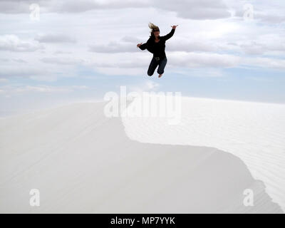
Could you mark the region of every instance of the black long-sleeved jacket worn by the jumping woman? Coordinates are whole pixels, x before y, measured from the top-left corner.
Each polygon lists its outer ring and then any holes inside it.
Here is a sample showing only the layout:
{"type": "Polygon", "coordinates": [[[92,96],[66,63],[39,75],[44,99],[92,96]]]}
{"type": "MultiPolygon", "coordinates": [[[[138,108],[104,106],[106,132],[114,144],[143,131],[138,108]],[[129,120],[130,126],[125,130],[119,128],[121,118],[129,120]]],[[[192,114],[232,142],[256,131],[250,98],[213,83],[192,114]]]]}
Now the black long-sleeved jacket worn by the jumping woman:
{"type": "Polygon", "coordinates": [[[172,28],[170,33],[166,36],[160,36],[160,41],[155,43],[155,37],[150,37],[147,40],[147,43],[143,43],[139,48],[141,50],[147,49],[150,53],[153,53],[154,57],[164,58],[165,56],[165,41],[167,41],[170,37],[173,36],[175,32],[175,28],[172,28]]]}

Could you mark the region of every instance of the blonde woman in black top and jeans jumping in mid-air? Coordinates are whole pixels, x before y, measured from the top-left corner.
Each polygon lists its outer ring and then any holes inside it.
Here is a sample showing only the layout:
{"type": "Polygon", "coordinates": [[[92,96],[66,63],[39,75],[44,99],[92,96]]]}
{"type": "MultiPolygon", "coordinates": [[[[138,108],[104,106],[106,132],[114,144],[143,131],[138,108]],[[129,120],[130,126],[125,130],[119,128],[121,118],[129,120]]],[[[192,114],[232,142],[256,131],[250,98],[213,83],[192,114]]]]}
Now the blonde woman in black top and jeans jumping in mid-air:
{"type": "Polygon", "coordinates": [[[152,61],[150,61],[150,66],[147,70],[147,75],[152,76],[155,72],[155,68],[158,66],[157,73],[159,73],[158,78],[160,78],[164,73],[167,63],[167,58],[165,56],[165,41],[173,36],[177,26],[171,26],[172,30],[166,36],[160,36],[160,28],[155,26],[155,24],[149,23],[148,26],[152,29],[150,38],[147,40],[147,43],[138,43],[137,47],[141,50],[147,49],[147,51],[153,53],[152,61]]]}

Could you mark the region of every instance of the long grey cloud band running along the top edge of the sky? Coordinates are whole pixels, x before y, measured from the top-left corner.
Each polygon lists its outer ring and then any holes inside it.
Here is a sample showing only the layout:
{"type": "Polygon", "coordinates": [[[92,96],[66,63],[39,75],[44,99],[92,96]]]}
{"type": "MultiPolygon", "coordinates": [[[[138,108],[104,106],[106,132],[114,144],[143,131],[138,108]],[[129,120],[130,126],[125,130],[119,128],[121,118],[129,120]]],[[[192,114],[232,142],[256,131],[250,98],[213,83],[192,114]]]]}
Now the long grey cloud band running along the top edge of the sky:
{"type": "Polygon", "coordinates": [[[186,19],[221,19],[230,16],[227,5],[222,0],[50,0],[50,1],[21,1],[4,0],[0,2],[1,12],[6,14],[28,13],[28,6],[37,3],[43,12],[70,12],[79,13],[90,10],[108,9],[163,9],[165,11],[175,11],[178,17],[186,19]]]}

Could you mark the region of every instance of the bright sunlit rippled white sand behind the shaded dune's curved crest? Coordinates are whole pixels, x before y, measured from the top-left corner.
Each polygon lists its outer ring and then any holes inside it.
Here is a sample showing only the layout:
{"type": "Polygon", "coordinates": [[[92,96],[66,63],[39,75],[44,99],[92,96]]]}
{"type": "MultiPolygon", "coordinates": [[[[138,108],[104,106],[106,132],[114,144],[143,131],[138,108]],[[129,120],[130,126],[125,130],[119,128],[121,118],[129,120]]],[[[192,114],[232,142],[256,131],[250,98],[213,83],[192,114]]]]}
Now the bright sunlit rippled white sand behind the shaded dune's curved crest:
{"type": "Polygon", "coordinates": [[[123,118],[128,137],[164,145],[215,147],[236,155],[285,210],[285,105],[182,98],[182,118],[123,118]]]}

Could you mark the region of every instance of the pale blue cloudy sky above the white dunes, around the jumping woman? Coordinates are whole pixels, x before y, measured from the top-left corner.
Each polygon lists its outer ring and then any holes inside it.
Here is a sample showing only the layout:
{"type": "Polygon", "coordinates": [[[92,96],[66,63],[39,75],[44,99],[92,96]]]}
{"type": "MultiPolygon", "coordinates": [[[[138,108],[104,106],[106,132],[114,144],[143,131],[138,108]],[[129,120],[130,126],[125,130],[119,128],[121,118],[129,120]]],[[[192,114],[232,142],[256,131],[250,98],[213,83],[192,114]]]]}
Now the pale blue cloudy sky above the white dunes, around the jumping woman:
{"type": "Polygon", "coordinates": [[[285,103],[285,1],[1,0],[0,115],[108,91],[285,103]],[[137,48],[166,41],[162,78],[137,48]]]}

